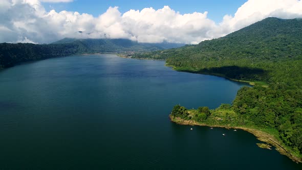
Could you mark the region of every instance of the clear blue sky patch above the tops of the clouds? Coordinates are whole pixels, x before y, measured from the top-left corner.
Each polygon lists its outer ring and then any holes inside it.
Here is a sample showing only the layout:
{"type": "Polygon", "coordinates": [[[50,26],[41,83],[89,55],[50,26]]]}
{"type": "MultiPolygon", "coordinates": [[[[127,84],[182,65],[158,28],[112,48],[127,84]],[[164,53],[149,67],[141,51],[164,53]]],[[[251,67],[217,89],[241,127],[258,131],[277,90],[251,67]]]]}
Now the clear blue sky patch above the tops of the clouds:
{"type": "Polygon", "coordinates": [[[246,0],[74,0],[70,3],[42,3],[46,10],[56,11],[77,11],[99,16],[106,12],[111,6],[119,7],[119,11],[124,13],[130,9],[142,10],[143,8],[153,7],[154,9],[169,6],[171,9],[181,14],[208,11],[208,18],[220,23],[226,14],[233,15],[246,0]]]}

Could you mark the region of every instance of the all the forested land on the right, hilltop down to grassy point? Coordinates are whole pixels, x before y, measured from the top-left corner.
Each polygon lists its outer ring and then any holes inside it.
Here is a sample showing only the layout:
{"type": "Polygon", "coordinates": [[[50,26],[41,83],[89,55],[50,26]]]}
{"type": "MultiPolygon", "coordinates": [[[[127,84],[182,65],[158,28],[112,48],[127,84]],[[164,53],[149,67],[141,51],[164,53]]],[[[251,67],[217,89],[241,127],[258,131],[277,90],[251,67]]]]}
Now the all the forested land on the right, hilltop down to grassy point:
{"type": "Polygon", "coordinates": [[[231,105],[214,110],[176,105],[170,118],[181,124],[266,132],[287,156],[302,161],[302,19],[269,17],[198,45],[133,57],[166,59],[178,71],[254,82],[241,88],[231,105]]]}

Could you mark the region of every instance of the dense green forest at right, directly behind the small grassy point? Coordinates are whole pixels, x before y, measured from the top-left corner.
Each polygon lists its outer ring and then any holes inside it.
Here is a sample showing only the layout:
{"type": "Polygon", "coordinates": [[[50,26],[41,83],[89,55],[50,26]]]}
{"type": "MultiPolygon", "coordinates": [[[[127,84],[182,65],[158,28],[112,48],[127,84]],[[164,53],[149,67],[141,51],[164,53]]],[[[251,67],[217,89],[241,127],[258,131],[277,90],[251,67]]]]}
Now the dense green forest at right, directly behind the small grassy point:
{"type": "MultiPolygon", "coordinates": [[[[294,81],[294,80],[293,80],[294,81]]],[[[255,125],[275,128],[285,144],[302,153],[302,91],[285,83],[269,87],[244,87],[233,101],[233,110],[255,125]]]]}

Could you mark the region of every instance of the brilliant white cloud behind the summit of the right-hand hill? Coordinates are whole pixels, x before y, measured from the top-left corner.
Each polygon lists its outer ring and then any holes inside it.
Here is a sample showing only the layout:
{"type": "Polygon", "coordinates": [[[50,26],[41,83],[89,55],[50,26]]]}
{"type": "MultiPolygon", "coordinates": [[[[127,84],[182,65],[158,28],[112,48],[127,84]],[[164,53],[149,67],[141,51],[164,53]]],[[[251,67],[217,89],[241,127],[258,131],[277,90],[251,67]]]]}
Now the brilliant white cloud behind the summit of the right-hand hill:
{"type": "Polygon", "coordinates": [[[220,23],[223,35],[244,28],[267,17],[302,17],[300,0],[249,0],[243,4],[234,16],[225,15],[220,23]]]}

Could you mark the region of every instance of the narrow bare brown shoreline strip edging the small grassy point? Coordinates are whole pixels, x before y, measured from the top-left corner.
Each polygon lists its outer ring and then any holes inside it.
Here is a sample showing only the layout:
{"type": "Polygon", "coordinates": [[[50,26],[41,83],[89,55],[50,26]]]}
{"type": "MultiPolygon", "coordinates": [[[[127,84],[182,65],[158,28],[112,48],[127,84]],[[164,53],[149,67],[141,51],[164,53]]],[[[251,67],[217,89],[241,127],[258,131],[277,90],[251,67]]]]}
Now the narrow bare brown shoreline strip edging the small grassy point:
{"type": "Polygon", "coordinates": [[[199,125],[199,126],[208,126],[208,127],[215,127],[215,128],[241,129],[243,131],[253,134],[258,140],[274,146],[276,151],[278,151],[282,155],[287,156],[292,161],[294,161],[296,163],[302,163],[302,158],[298,158],[298,157],[292,155],[290,152],[288,152],[286,150],[286,148],[284,148],[282,146],[281,143],[279,143],[279,141],[273,135],[270,135],[261,130],[255,130],[252,128],[247,128],[247,127],[242,127],[242,126],[228,126],[228,125],[218,125],[218,124],[209,125],[206,123],[199,123],[199,122],[192,121],[192,120],[184,120],[179,117],[172,118],[171,115],[169,115],[169,119],[171,122],[175,122],[175,123],[181,124],[181,125],[199,125]]]}

